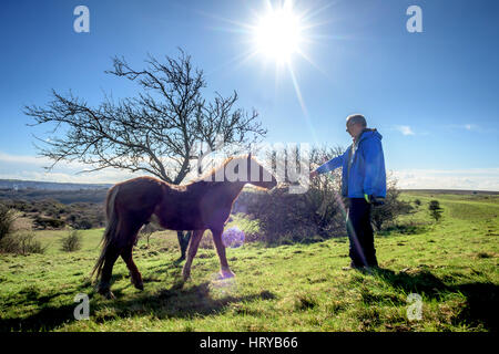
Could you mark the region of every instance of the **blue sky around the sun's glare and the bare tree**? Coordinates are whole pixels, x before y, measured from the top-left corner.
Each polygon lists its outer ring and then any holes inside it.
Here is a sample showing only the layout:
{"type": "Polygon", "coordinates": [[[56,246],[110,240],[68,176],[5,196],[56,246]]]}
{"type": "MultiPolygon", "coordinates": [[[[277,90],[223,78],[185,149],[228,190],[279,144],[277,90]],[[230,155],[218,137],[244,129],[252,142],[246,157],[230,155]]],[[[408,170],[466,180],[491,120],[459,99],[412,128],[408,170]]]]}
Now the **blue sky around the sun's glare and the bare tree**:
{"type": "MultiPolygon", "coordinates": [[[[279,2],[273,1],[274,7],[279,2]]],[[[134,95],[136,86],[104,74],[111,56],[140,67],[147,53],[177,46],[204,71],[212,96],[236,90],[238,105],[259,112],[269,143],[346,147],[345,117],[363,113],[384,136],[387,170],[406,188],[499,190],[499,2],[294,1],[310,24],[291,72],[262,55],[247,58],[246,25],[265,1],[2,1],[0,13],[0,178],[116,181],[125,175],[51,174],[35,159],[26,104],[43,105],[50,90],[91,104],[103,92],[134,95]],[[90,10],[90,33],[73,30],[73,9],[90,10]],[[409,33],[409,6],[422,10],[422,33],[409,33]],[[297,96],[299,87],[302,104],[297,96]]],[[[81,166],[80,166],[81,167],[81,166]]]]}

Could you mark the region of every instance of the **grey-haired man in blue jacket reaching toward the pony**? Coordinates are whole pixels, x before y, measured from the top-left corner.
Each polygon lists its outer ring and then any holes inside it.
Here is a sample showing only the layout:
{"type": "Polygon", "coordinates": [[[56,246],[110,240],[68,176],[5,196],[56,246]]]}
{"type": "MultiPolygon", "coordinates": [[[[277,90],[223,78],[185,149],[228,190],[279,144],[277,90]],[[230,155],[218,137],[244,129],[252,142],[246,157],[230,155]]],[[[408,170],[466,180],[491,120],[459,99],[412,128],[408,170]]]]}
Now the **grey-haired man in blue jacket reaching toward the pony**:
{"type": "Polygon", "coordinates": [[[353,144],[345,154],[312,171],[310,178],[343,167],[342,195],[349,198],[346,223],[350,267],[377,267],[370,211],[373,205],[381,205],[386,197],[381,135],[376,129],[367,128],[366,118],[360,114],[348,116],[346,127],[353,144]]]}

